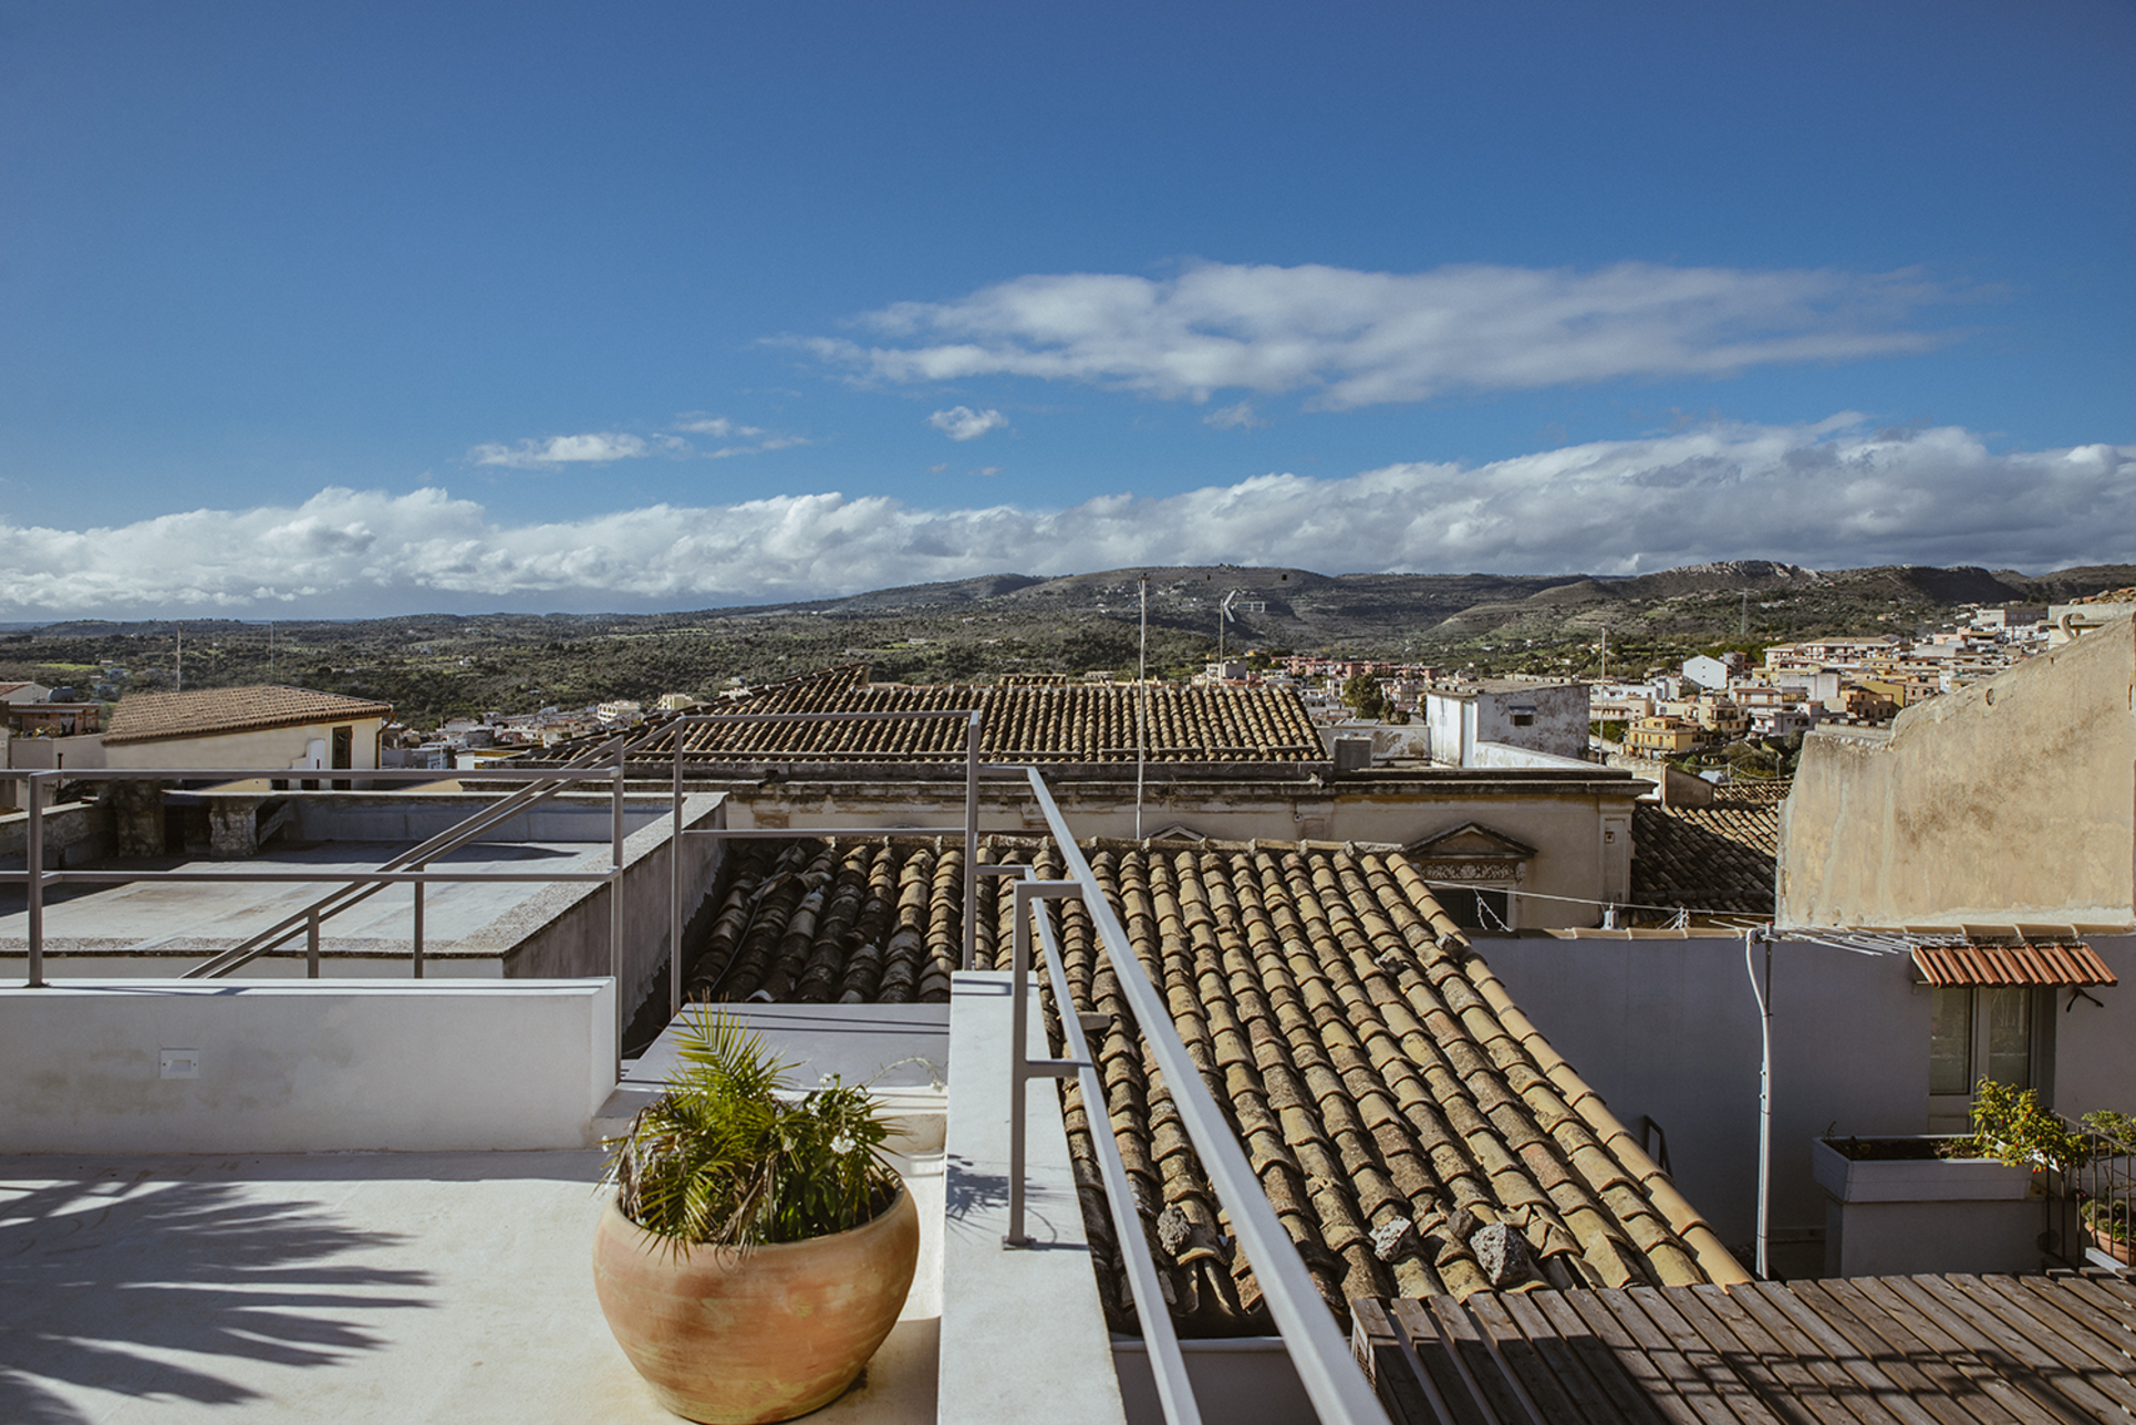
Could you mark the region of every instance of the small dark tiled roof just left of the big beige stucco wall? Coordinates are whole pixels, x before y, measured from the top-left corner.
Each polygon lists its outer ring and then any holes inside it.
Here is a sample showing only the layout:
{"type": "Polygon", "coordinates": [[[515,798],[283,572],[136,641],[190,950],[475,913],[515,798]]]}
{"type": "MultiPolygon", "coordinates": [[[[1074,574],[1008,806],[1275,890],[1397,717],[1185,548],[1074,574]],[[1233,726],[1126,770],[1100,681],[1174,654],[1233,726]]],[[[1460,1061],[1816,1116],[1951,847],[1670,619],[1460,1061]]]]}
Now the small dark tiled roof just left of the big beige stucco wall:
{"type": "Polygon", "coordinates": [[[1634,805],[1632,902],[1773,919],[1784,797],[1786,784],[1741,784],[1705,808],[1634,805]]]}

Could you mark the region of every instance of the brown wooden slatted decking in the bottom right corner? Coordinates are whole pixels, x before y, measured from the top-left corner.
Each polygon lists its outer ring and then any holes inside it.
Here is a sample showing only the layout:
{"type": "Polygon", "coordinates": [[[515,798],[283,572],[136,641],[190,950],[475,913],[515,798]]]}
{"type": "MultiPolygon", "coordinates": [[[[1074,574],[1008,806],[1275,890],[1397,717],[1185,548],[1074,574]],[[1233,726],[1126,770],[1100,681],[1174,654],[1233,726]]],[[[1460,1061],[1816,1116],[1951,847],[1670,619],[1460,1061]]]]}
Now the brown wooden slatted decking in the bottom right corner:
{"type": "Polygon", "coordinates": [[[2083,1425],[2136,1416],[2136,1286],[1854,1278],[1352,1301],[1397,1425],[2083,1425]]]}

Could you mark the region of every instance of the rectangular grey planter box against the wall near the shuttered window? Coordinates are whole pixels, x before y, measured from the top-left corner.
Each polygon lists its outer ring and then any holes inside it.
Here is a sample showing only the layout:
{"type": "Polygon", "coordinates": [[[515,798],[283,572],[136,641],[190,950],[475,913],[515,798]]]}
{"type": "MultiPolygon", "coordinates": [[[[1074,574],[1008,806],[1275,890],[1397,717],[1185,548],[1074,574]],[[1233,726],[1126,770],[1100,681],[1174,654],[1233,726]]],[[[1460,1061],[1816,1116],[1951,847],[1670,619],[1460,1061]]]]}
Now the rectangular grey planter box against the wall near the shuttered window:
{"type": "Polygon", "coordinates": [[[1816,1139],[1809,1171],[1824,1190],[1824,1275],[2040,1271],[2046,1199],[2029,1169],[1993,1158],[1935,1158],[1950,1139],[1860,1139],[1882,1152],[1850,1158],[1816,1139]]]}

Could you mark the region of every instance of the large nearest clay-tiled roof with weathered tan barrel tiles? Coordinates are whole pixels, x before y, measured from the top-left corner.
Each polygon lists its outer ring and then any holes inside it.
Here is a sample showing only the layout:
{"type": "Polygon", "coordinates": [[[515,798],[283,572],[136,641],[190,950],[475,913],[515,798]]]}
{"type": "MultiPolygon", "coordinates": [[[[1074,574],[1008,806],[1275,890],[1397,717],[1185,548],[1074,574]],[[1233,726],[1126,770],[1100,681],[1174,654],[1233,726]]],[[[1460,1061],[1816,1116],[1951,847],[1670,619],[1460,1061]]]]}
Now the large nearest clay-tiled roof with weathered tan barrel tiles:
{"type": "MultiPolygon", "coordinates": [[[[944,1000],[963,852],[933,842],[737,848],[692,998],[944,1000]],[[720,970],[733,961],[733,968],[720,970]]],[[[1478,1233],[1504,1222],[1532,1286],[1683,1284],[1741,1271],[1602,1100],[1521,1015],[1393,848],[1091,842],[1091,870],[1228,1105],[1329,1305],[1493,1284],[1478,1233]]],[[[1047,842],[989,837],[983,861],[1059,874],[1047,842]]],[[[1006,961],[1012,899],[980,880],[978,961],[1006,961]]],[[[1267,1327],[1171,1094],[1132,1032],[1077,904],[1053,910],[1094,1036],[1115,1141],[1173,1314],[1196,1333],[1267,1327]]],[[[1096,1147],[1066,1085],[1083,1216],[1115,1325],[1132,1329],[1096,1147]]],[[[1504,1282],[1506,1278],[1499,1278],[1504,1282]]]]}

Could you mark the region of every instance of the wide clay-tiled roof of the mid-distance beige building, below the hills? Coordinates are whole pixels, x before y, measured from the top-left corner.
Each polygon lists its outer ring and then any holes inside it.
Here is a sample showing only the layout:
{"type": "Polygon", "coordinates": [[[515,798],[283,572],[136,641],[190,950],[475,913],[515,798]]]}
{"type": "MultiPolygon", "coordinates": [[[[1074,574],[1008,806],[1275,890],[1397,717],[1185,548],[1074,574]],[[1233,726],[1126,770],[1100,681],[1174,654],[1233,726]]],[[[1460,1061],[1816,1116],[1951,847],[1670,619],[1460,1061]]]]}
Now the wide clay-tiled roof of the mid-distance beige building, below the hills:
{"type": "MultiPolygon", "coordinates": [[[[891,714],[978,709],[980,756],[993,763],[1134,763],[1141,688],[1117,684],[927,686],[869,684],[867,664],[792,677],[731,699],[735,714],[884,714],[857,722],[737,722],[684,729],[684,761],[705,763],[961,763],[963,722],[891,714]]],[[[1290,688],[1147,690],[1151,763],[1326,761],[1305,703],[1290,688]]],[[[543,761],[581,746],[551,748],[543,761]]],[[[673,763],[673,733],[632,754],[673,763]]]]}

